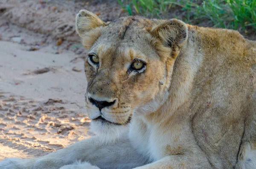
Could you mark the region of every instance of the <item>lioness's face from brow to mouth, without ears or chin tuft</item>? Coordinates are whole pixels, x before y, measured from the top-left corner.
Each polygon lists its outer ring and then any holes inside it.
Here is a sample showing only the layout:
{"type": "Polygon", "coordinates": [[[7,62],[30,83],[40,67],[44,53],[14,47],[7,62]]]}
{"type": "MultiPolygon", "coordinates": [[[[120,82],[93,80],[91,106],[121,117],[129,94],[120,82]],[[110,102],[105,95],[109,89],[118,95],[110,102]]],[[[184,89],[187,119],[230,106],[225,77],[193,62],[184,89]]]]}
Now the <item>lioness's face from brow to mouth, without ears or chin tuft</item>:
{"type": "Polygon", "coordinates": [[[102,125],[128,124],[134,109],[153,100],[159,92],[165,64],[149,44],[139,49],[122,40],[102,42],[108,39],[99,37],[84,63],[87,112],[102,125]]]}

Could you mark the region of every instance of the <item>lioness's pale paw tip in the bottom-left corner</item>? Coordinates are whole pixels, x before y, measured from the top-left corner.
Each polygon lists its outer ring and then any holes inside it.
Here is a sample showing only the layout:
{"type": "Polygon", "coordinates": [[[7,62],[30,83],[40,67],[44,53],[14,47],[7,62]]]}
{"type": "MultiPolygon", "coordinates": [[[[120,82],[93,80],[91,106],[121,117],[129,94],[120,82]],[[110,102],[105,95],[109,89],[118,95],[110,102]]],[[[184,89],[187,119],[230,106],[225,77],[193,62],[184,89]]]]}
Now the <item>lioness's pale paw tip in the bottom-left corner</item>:
{"type": "Polygon", "coordinates": [[[30,169],[32,159],[7,158],[0,161],[0,169],[30,169]]]}

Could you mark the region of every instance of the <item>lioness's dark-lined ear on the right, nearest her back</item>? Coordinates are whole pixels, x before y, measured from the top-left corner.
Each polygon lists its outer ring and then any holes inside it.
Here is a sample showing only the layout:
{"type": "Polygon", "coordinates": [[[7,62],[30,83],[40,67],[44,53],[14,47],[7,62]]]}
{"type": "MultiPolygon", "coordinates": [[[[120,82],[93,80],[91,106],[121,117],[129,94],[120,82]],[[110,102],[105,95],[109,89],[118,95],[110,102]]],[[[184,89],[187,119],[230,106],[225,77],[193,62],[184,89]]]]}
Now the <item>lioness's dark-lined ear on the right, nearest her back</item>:
{"type": "Polygon", "coordinates": [[[157,37],[163,46],[179,50],[188,38],[188,27],[181,20],[172,19],[154,26],[150,34],[157,37]]]}

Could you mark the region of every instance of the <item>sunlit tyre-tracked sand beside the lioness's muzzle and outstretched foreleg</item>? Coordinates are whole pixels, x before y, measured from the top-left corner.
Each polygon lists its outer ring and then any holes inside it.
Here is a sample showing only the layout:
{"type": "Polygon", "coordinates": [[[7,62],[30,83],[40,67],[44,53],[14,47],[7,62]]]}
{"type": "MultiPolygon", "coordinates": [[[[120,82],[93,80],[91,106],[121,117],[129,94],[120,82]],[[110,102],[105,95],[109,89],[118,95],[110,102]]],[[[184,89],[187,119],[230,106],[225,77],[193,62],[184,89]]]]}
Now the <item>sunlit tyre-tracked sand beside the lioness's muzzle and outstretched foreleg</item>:
{"type": "MultiPolygon", "coordinates": [[[[83,126],[85,115],[49,104],[60,100],[35,101],[1,94],[0,160],[5,157],[41,156],[90,137],[83,126]],[[44,112],[49,112],[47,115],[44,112]],[[8,150],[5,151],[5,150],[8,150]]],[[[86,120],[89,124],[90,120],[86,120]]]]}

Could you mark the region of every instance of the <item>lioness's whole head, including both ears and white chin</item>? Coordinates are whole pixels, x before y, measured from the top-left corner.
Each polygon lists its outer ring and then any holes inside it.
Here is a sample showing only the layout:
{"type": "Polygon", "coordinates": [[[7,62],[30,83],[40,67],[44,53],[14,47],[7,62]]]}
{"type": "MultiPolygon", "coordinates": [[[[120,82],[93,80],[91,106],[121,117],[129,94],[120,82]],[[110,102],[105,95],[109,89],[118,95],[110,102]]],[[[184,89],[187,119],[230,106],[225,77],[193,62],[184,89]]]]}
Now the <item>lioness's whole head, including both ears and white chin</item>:
{"type": "Polygon", "coordinates": [[[169,88],[175,58],[187,38],[186,25],[178,20],[158,25],[140,17],[104,23],[82,10],[76,26],[88,49],[85,103],[96,132],[119,132],[133,116],[153,112],[157,96],[169,88]],[[179,26],[184,27],[180,35],[179,26]],[[162,30],[170,28],[175,31],[166,40],[170,34],[162,30]]]}

